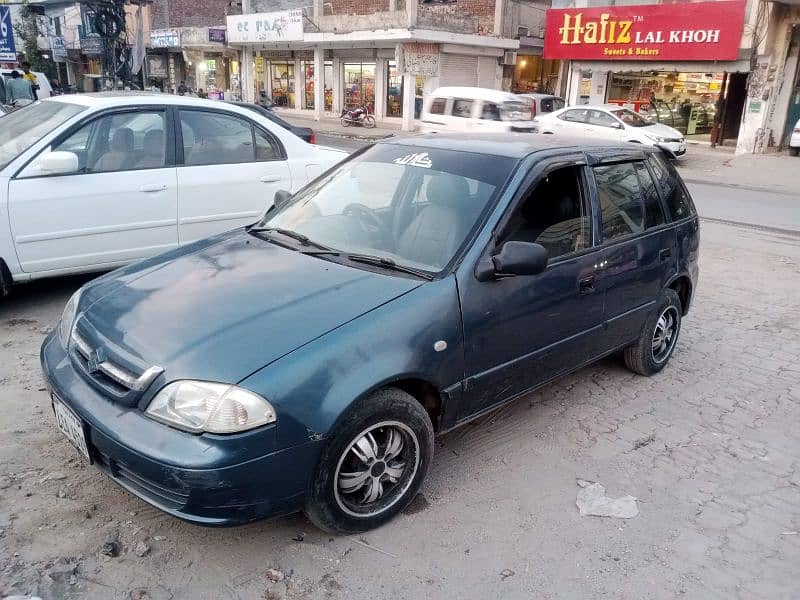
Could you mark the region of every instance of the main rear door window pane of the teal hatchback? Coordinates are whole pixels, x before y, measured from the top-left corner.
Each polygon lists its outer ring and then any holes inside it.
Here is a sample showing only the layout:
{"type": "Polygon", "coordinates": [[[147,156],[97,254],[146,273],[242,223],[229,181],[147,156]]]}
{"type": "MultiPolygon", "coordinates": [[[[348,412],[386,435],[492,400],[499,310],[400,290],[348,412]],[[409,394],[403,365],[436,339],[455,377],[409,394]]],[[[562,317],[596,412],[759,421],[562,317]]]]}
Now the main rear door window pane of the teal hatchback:
{"type": "Polygon", "coordinates": [[[645,210],[639,178],[632,163],[595,167],[603,241],[645,230],[645,210]]]}

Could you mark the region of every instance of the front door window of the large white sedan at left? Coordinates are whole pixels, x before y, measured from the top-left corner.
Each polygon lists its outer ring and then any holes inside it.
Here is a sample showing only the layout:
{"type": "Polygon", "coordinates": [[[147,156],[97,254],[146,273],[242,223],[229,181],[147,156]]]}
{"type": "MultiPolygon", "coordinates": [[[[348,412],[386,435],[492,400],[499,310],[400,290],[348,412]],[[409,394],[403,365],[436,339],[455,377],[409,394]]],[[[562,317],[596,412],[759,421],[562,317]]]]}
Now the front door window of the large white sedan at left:
{"type": "Polygon", "coordinates": [[[166,165],[165,130],[162,111],[115,113],[87,123],[53,150],[75,153],[83,173],[158,169],[166,165]]]}

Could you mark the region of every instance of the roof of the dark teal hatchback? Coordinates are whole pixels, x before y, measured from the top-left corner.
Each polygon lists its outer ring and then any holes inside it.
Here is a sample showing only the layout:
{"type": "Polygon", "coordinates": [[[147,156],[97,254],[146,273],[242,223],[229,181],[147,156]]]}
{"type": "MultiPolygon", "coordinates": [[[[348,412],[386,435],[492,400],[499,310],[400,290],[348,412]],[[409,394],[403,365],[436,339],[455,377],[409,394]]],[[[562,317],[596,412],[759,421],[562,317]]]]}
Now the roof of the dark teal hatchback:
{"type": "Polygon", "coordinates": [[[409,148],[430,148],[433,150],[454,150],[457,152],[475,152],[492,156],[505,156],[522,159],[535,152],[546,150],[564,150],[580,152],[592,150],[647,150],[641,144],[609,143],[603,140],[585,140],[582,137],[544,135],[536,133],[498,133],[498,134],[448,134],[430,133],[404,138],[387,138],[378,144],[407,146],[409,148]]]}

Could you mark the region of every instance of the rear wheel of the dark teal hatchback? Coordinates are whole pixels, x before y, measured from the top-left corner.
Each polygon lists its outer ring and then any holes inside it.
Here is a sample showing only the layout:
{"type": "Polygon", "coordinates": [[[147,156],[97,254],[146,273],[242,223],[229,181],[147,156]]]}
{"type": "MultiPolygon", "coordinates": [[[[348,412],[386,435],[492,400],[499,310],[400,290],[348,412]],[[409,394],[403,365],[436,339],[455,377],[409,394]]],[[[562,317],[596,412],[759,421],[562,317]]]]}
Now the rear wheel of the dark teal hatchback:
{"type": "Polygon", "coordinates": [[[681,330],[681,300],[666,289],[639,339],[625,348],[625,365],[639,375],[655,375],[669,362],[681,330]]]}

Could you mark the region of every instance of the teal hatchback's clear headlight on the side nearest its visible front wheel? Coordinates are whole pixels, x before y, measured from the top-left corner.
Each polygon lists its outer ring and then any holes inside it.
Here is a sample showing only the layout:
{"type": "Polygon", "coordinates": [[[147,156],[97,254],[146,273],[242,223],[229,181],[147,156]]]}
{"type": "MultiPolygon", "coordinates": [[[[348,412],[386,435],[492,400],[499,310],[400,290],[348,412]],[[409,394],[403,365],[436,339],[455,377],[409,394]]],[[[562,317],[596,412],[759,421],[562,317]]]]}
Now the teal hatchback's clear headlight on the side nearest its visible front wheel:
{"type": "Polygon", "coordinates": [[[150,402],[145,414],[191,433],[236,433],[275,421],[264,398],[235,385],[175,381],[150,402]]]}

